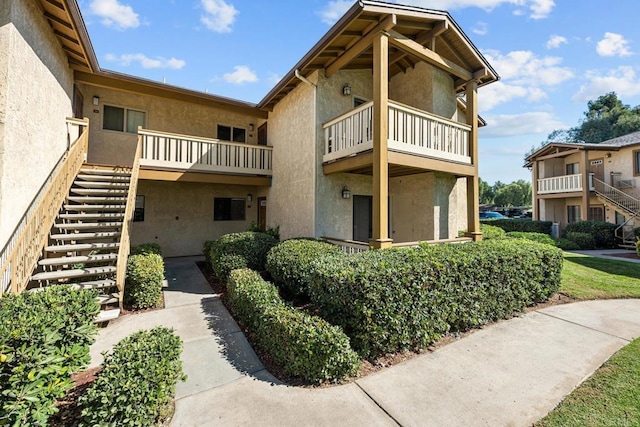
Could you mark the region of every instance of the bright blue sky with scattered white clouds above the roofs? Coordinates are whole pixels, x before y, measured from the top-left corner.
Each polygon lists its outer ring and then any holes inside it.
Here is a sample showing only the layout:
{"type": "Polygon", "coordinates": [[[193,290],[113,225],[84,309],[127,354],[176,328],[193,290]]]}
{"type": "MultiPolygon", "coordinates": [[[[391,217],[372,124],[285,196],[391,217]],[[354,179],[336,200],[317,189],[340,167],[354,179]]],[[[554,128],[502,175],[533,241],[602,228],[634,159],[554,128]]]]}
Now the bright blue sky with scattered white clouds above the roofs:
{"type": "MultiPolygon", "coordinates": [[[[351,0],[80,0],[100,65],[258,102],[351,0]]],[[[637,0],[401,0],[448,10],[501,76],[480,90],[480,177],[531,178],[523,155],[607,92],[640,104],[637,0]],[[635,27],[635,28],[634,28],[635,27]]]]}

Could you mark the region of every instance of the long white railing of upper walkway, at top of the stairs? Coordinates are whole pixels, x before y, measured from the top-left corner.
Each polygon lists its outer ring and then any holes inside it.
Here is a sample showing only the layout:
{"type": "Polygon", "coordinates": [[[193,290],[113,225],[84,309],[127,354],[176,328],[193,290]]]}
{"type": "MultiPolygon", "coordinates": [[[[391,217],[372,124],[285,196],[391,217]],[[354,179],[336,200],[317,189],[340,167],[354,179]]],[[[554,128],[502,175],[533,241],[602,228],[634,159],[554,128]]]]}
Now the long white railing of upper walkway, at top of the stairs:
{"type": "Polygon", "coordinates": [[[146,129],[140,166],[193,172],[272,174],[272,147],[200,138],[146,129]]]}

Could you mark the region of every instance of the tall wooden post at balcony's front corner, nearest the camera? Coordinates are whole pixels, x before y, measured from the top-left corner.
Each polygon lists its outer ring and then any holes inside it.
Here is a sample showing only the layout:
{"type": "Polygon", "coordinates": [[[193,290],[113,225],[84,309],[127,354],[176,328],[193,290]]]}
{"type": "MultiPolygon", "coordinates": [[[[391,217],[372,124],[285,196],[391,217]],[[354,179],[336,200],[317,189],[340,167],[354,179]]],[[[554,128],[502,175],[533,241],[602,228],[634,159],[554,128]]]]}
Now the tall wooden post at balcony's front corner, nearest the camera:
{"type": "Polygon", "coordinates": [[[389,38],[373,39],[373,238],[369,246],[389,248],[389,38]]]}

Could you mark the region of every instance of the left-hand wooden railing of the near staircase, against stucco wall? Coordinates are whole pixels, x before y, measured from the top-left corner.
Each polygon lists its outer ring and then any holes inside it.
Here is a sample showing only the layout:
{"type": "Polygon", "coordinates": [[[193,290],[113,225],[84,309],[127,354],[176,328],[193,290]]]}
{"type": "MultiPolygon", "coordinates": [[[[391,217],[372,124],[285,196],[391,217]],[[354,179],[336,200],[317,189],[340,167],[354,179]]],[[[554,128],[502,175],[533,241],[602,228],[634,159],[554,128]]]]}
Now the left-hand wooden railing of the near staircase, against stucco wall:
{"type": "Polygon", "coordinates": [[[89,120],[67,119],[70,144],[0,252],[0,296],[25,290],[69,188],[87,160],[89,120]]]}

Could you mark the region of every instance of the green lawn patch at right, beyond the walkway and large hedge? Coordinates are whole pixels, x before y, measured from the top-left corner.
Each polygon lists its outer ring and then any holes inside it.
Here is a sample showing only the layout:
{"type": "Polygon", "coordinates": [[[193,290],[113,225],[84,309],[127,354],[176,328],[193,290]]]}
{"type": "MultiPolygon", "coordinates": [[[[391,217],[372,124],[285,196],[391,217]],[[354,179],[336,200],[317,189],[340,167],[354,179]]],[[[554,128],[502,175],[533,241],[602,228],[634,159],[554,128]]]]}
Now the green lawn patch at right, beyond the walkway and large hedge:
{"type": "Polygon", "coordinates": [[[640,264],[565,252],[560,292],[577,299],[640,298],[640,264]]]}

